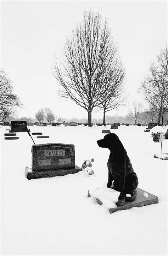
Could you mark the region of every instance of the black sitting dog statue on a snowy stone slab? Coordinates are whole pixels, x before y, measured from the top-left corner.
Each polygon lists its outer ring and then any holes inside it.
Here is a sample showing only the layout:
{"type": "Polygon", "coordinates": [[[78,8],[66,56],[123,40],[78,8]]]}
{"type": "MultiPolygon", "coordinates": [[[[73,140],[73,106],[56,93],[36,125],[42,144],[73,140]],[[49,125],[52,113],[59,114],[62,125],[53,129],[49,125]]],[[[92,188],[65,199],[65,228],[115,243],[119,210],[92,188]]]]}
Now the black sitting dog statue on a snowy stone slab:
{"type": "Polygon", "coordinates": [[[107,187],[120,192],[116,205],[122,206],[125,201],[134,201],[137,194],[138,178],[133,170],[127,151],[118,136],[114,133],[109,133],[102,140],[98,140],[97,144],[101,148],[110,149],[110,156],[107,162],[107,187]],[[126,194],[131,196],[127,197],[125,196],[126,194]]]}

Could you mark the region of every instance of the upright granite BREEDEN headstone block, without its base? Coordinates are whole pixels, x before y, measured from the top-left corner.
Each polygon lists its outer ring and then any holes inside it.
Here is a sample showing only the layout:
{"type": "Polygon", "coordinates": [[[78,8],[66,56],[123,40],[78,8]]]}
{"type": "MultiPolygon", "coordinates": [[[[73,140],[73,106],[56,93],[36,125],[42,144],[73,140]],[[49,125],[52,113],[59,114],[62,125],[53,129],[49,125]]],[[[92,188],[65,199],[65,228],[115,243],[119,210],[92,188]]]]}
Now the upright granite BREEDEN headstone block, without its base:
{"type": "Polygon", "coordinates": [[[32,146],[32,170],[75,168],[75,149],[72,144],[47,143],[32,146]]]}

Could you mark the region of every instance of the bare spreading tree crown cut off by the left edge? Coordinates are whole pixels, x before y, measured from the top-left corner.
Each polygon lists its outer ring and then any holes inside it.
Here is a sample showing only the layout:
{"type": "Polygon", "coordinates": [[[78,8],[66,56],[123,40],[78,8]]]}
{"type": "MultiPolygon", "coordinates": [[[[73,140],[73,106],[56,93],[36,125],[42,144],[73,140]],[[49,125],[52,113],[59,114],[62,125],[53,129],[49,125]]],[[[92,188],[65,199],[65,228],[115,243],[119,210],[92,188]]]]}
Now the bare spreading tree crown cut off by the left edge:
{"type": "Polygon", "coordinates": [[[4,70],[0,70],[0,107],[22,107],[18,96],[13,93],[12,82],[4,70]]]}

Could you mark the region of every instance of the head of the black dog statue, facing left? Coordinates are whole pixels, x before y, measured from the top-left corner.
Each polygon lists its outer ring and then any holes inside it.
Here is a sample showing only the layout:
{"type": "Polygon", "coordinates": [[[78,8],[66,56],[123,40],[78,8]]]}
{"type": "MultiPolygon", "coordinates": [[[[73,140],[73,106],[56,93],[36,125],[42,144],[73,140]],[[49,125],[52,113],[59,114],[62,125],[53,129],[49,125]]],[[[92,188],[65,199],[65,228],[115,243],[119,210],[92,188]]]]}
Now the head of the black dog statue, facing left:
{"type": "Polygon", "coordinates": [[[109,133],[104,136],[102,140],[98,140],[97,144],[101,148],[112,148],[118,139],[118,136],[114,133],[109,133]]]}

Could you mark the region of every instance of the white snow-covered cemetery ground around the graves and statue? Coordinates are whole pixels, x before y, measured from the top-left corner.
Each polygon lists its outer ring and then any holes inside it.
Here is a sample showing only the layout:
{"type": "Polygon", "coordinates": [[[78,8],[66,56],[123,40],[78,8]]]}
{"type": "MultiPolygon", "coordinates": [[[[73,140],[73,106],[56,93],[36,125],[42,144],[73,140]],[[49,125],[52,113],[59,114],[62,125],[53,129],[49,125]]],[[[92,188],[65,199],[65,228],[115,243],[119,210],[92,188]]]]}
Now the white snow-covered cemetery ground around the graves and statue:
{"type": "MultiPolygon", "coordinates": [[[[36,144],[75,145],[75,164],[94,158],[95,176],[77,174],[28,180],[32,140],[26,132],[19,140],[4,140],[1,127],[1,255],[167,255],[167,165],[154,158],[161,144],[153,143],[145,127],[119,127],[116,133],[127,150],[139,179],[139,188],[158,196],[158,204],[110,214],[88,190],[107,180],[110,151],[98,147],[102,130],[109,127],[36,127],[50,138],[36,144]]],[[[8,131],[6,131],[8,132],[8,131]]],[[[168,153],[168,140],[162,153],[168,153]]]]}

